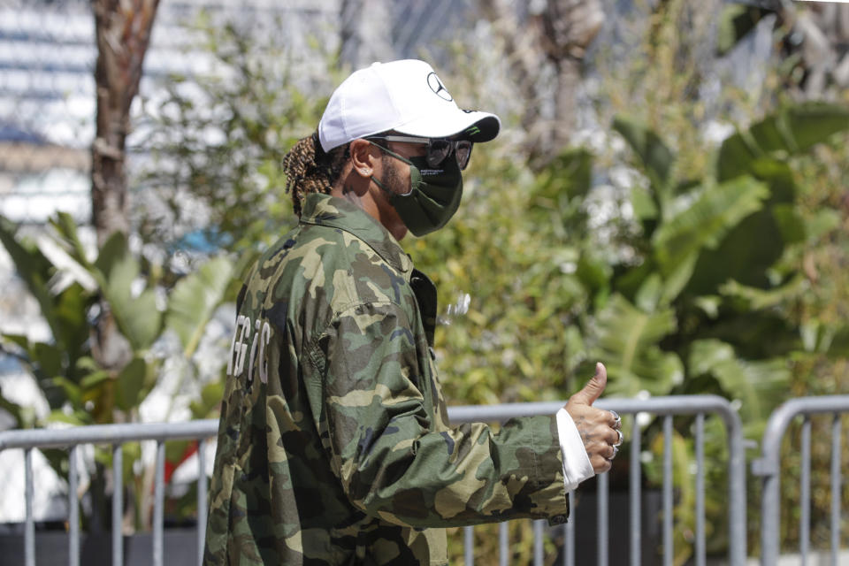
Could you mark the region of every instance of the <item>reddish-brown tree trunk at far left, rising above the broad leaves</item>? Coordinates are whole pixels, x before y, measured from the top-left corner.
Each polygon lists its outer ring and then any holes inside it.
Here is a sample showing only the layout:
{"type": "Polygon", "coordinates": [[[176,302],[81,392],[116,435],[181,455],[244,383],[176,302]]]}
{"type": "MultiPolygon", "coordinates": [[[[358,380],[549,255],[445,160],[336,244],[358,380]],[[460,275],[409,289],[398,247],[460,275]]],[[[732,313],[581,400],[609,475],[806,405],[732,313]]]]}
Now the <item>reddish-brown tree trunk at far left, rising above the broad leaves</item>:
{"type": "Polygon", "coordinates": [[[97,242],[127,233],[126,134],[159,0],[92,0],[97,63],[96,137],[91,146],[91,212],[97,242]]]}

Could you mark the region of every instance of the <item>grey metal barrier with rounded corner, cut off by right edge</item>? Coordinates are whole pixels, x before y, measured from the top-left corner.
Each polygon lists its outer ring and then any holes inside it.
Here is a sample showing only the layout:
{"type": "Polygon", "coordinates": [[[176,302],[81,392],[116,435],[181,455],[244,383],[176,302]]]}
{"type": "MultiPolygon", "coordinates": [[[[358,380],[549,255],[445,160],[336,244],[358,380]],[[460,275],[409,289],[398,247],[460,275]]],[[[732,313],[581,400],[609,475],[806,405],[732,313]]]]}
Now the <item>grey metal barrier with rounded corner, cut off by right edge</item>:
{"type": "Polygon", "coordinates": [[[802,416],[801,462],[802,469],[799,516],[799,554],[807,563],[809,551],[811,503],[811,415],[831,414],[831,563],[837,566],[840,549],[840,416],[849,413],[849,395],[804,397],[785,402],[769,417],[763,432],[761,458],[752,463],[752,472],[761,476],[761,564],[772,566],[778,562],[779,511],[781,508],[781,442],[784,432],[795,417],[802,416]]]}

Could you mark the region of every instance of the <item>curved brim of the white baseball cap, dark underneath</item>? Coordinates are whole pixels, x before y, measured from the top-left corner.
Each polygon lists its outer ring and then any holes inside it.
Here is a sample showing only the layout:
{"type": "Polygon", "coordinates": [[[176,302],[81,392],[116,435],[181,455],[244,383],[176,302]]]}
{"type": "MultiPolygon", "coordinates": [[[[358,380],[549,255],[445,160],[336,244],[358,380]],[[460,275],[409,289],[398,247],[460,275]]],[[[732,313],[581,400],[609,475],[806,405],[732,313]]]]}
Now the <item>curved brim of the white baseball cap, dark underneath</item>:
{"type": "Polygon", "coordinates": [[[489,142],[501,130],[501,120],[489,112],[460,110],[440,112],[438,116],[425,116],[395,126],[399,134],[416,135],[424,138],[455,137],[481,143],[489,142]]]}

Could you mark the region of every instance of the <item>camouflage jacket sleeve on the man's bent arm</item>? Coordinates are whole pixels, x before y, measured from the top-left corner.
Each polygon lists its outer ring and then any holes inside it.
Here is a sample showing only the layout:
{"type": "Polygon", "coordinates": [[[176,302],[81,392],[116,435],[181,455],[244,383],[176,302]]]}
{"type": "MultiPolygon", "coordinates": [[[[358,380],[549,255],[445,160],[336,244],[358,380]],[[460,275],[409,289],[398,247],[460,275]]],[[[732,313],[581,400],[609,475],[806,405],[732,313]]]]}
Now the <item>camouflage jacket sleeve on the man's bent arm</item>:
{"type": "MultiPolygon", "coordinates": [[[[353,505],[416,527],[516,517],[565,520],[555,416],[436,430],[415,335],[391,302],[340,313],[310,348],[310,399],[333,472],[353,505]],[[320,386],[316,383],[320,381],[320,386]]],[[[307,378],[309,379],[309,378],[307,378]]]]}

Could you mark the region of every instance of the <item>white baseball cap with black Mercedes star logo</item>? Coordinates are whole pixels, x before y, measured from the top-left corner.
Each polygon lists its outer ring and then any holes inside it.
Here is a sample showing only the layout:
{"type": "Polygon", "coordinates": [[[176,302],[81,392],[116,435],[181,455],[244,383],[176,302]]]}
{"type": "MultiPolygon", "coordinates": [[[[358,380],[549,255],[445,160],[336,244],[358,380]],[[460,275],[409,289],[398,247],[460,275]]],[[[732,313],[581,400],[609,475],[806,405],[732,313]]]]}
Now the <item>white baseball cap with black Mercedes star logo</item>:
{"type": "Polygon", "coordinates": [[[460,134],[489,142],[501,128],[489,112],[460,110],[431,65],[417,59],[372,63],[333,91],[318,122],[325,151],[358,138],[394,130],[424,138],[460,134]]]}

